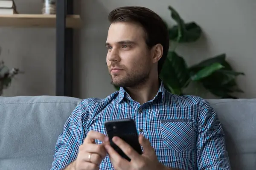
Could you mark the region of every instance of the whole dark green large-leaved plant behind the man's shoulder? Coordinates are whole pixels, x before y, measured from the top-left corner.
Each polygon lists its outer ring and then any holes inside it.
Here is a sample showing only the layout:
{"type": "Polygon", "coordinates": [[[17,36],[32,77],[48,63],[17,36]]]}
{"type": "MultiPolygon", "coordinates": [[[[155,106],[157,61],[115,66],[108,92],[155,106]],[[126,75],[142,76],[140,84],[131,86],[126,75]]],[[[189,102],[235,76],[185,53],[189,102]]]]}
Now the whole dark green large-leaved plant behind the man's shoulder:
{"type": "Polygon", "coordinates": [[[236,83],[236,77],[244,73],[233,71],[226,60],[226,54],[220,54],[188,67],[175,49],[179,43],[197,41],[201,37],[202,30],[195,22],[184,23],[172,6],[169,6],[169,10],[177,25],[169,28],[171,48],[160,73],[165,88],[173,94],[184,95],[184,89],[191,82],[197,82],[219,98],[236,99],[236,96],[232,95],[233,92],[243,93],[236,83]]]}

